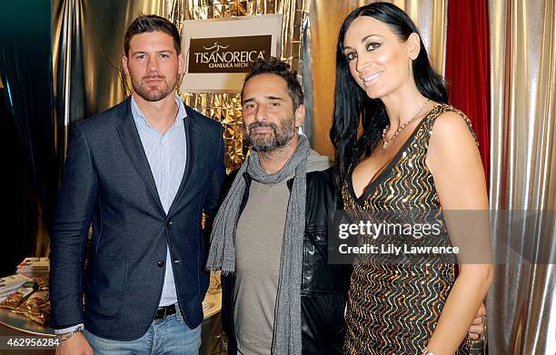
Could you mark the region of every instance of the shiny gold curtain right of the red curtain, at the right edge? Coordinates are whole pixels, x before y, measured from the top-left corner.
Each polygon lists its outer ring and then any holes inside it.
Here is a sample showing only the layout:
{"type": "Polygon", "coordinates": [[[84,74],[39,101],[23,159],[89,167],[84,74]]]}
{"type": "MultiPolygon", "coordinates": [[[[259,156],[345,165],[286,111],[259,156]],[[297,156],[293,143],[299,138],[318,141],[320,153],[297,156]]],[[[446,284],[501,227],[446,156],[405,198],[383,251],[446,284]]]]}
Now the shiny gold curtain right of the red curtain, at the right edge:
{"type": "Polygon", "coordinates": [[[491,209],[548,217],[534,219],[521,232],[522,248],[493,243],[489,354],[553,355],[556,268],[523,255],[531,245],[536,256],[542,250],[556,253],[556,5],[492,0],[489,7],[491,209]]]}

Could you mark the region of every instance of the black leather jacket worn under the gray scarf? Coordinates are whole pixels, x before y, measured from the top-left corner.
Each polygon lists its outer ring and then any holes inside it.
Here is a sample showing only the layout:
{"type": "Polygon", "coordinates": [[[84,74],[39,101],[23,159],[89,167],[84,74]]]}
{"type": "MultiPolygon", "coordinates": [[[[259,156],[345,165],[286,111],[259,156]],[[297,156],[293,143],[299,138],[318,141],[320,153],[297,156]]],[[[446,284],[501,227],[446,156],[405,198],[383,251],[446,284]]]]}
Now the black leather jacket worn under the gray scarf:
{"type": "MultiPolygon", "coordinates": [[[[225,196],[235,173],[223,185],[225,196]]],[[[249,198],[252,179],[243,173],[247,184],[241,212],[249,198]]],[[[287,182],[292,190],[293,179],[287,182]]],[[[343,350],[345,320],[343,316],[349,281],[349,265],[328,263],[328,222],[338,208],[332,184],[332,168],[307,173],[307,203],[303,242],[302,336],[303,355],[340,354],[343,350]]],[[[240,212],[240,213],[241,213],[240,212]]],[[[223,276],[223,330],[229,338],[228,353],[237,353],[233,329],[233,290],[235,276],[223,276]]],[[[282,354],[280,354],[282,355],[282,354]]],[[[287,354],[283,354],[287,355],[287,354]]]]}

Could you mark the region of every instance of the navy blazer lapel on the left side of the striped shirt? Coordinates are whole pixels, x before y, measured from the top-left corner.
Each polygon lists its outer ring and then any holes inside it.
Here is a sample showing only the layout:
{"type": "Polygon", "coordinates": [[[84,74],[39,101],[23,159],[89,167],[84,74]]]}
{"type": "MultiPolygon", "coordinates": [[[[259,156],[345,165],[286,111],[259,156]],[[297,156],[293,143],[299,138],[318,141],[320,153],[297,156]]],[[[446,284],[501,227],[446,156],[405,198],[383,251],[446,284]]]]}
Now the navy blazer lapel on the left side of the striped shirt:
{"type": "Polygon", "coordinates": [[[117,112],[117,116],[119,123],[117,124],[116,129],[118,130],[120,139],[124,144],[125,152],[129,155],[129,158],[134,164],[135,170],[137,170],[137,173],[139,173],[139,176],[143,179],[149,192],[151,192],[154,202],[156,202],[160,211],[162,211],[165,215],[164,207],[162,202],[160,202],[158,190],[156,190],[156,184],[154,183],[153,172],[151,171],[151,166],[149,165],[149,161],[144,153],[141,137],[139,137],[134,117],[131,113],[131,99],[128,99],[126,104],[121,106],[117,112]]]}

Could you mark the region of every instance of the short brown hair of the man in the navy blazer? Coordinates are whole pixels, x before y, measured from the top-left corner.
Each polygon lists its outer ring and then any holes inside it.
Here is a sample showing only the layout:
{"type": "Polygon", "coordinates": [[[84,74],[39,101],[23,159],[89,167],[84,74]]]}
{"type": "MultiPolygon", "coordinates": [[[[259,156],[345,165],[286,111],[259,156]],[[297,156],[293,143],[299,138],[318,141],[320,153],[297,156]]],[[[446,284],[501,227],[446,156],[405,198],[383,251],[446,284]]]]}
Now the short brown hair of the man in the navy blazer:
{"type": "Polygon", "coordinates": [[[124,37],[124,54],[129,54],[129,43],[134,35],[141,35],[146,32],[164,32],[166,35],[172,36],[174,39],[174,48],[177,54],[182,53],[182,40],[177,27],[165,19],[157,15],[144,15],[141,14],[134,19],[134,22],[129,25],[124,37]]]}

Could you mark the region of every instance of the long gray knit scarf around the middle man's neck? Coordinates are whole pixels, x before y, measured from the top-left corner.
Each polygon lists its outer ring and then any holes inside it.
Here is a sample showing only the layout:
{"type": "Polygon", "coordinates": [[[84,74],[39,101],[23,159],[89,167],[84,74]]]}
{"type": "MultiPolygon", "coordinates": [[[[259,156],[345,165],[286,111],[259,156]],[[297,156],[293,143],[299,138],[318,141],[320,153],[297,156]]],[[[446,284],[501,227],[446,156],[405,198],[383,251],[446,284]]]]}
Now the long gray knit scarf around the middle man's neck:
{"type": "Polygon", "coordinates": [[[213,271],[221,270],[224,274],[235,271],[235,231],[246,187],[243,173],[246,171],[254,181],[265,184],[283,182],[295,173],[283,232],[280,283],[274,311],[273,355],[302,353],[301,282],[306,166],[310,146],[305,136],[299,137],[295,152],[277,173],[264,173],[259,156],[256,152],[251,152],[216,214],[211,234],[211,250],[206,263],[207,269],[213,271]]]}

